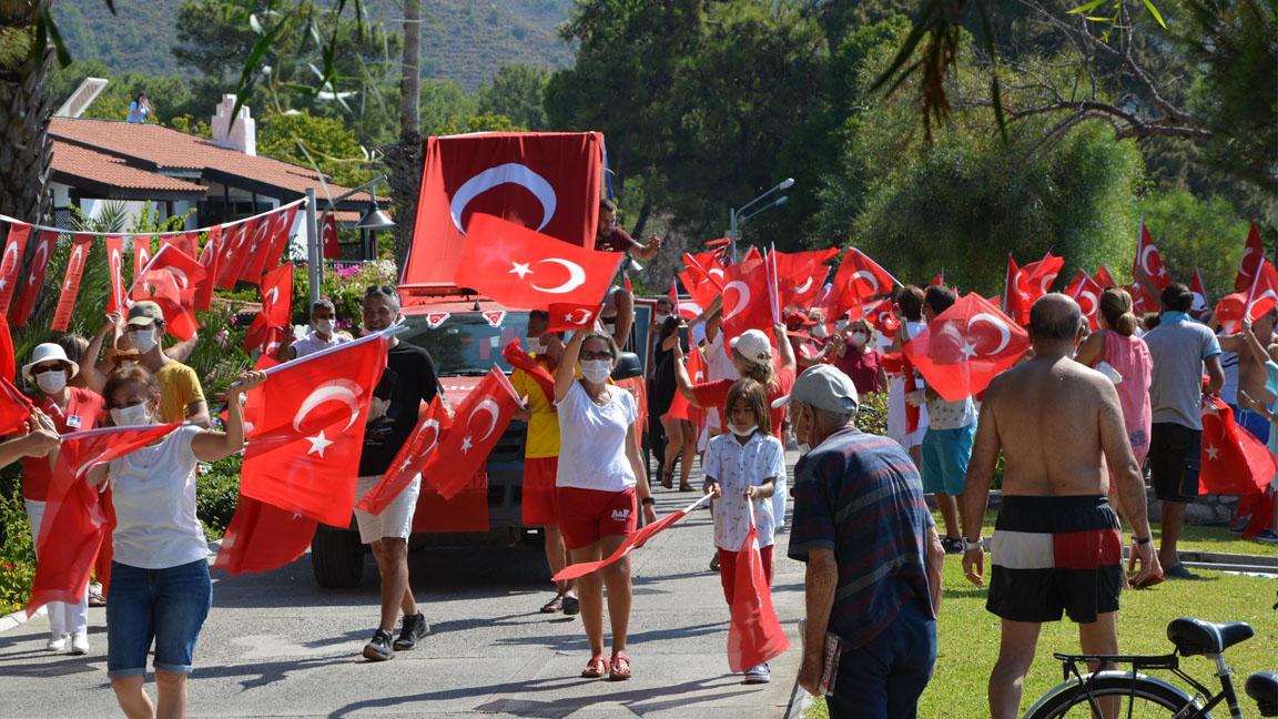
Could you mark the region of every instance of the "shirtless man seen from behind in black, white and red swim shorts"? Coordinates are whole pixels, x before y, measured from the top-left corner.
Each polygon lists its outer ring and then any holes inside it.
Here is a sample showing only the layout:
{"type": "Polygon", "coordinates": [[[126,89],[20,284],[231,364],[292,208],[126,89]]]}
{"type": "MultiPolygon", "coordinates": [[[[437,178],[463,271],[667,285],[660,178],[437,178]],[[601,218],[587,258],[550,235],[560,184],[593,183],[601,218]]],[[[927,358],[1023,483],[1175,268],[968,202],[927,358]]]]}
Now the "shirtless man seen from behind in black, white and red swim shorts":
{"type": "Polygon", "coordinates": [[[964,573],[978,586],[984,583],[980,527],[999,450],[1006,461],[985,604],[1002,618],[998,663],[989,676],[996,719],[1019,716],[1043,622],[1067,612],[1079,624],[1084,652],[1118,651],[1122,536],[1105,499],[1111,476],[1132,525],[1132,563],[1140,562],[1132,581],[1162,574],[1118,393],[1104,375],[1071,360],[1081,326],[1079,306],[1068,297],[1053,293],[1035,302],[1034,360],[990,383],[976,425],[961,509],[964,573]]]}

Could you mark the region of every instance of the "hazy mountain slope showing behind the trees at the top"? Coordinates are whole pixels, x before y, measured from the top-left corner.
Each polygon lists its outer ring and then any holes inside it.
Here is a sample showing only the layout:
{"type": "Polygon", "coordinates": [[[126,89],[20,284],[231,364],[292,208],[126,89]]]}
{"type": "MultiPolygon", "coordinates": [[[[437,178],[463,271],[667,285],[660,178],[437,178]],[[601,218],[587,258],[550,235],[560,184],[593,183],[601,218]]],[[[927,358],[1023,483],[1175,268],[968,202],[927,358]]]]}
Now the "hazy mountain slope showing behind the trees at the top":
{"type": "MultiPolygon", "coordinates": [[[[400,32],[403,3],[364,0],[371,22],[400,32]]],[[[72,56],[100,60],[115,72],[192,74],[169,51],[178,0],[115,0],[112,15],[104,0],[59,0],[54,17],[72,56]]],[[[571,47],[556,28],[573,0],[423,0],[422,77],[452,79],[466,91],[489,79],[501,65],[561,68],[571,47]]],[[[349,12],[349,10],[348,10],[349,12]]]]}

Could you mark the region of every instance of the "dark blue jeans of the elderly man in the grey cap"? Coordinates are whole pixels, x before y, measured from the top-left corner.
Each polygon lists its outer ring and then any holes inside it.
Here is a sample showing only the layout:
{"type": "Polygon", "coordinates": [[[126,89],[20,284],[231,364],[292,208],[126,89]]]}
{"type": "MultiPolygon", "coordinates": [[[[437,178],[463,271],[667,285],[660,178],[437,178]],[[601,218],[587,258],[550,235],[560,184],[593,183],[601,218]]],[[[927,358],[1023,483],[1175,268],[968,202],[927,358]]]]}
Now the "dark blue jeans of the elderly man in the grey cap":
{"type": "MultiPolygon", "coordinates": [[[[114,591],[114,590],[112,590],[114,591]]],[[[838,660],[831,719],[912,719],[937,663],[937,620],[911,599],[868,644],[838,660]]]]}

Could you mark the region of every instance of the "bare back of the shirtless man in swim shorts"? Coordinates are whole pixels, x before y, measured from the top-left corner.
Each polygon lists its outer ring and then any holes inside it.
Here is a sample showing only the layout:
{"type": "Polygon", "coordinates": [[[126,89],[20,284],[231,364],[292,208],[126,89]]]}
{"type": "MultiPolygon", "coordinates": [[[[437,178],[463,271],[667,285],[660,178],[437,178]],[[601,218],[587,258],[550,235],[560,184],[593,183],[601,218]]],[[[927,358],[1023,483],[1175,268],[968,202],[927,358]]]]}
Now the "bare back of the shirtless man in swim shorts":
{"type": "MultiPolygon", "coordinates": [[[[993,426],[1003,452],[1006,495],[1104,495],[1104,457],[1120,453],[1116,440],[1127,445],[1113,384],[1065,357],[1031,360],[996,377],[980,425],[993,426]]],[[[1130,446],[1127,455],[1135,463],[1130,446]]]]}

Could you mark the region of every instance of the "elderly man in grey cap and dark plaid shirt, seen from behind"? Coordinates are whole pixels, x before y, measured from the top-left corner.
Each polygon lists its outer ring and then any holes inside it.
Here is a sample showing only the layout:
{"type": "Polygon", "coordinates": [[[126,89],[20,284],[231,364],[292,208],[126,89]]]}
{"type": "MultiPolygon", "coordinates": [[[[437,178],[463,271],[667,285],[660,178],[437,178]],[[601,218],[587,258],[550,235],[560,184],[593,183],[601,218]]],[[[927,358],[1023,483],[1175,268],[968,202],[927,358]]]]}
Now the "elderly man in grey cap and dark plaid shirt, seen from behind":
{"type": "Polygon", "coordinates": [[[944,560],[919,471],[900,444],[856,429],[856,386],[837,368],[809,368],[773,404],[785,403],[812,448],[795,467],[789,551],[808,564],[799,684],[818,692],[829,632],[842,646],[831,716],[915,716],[944,560]]]}

